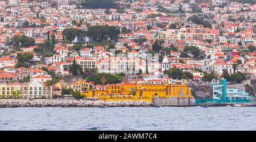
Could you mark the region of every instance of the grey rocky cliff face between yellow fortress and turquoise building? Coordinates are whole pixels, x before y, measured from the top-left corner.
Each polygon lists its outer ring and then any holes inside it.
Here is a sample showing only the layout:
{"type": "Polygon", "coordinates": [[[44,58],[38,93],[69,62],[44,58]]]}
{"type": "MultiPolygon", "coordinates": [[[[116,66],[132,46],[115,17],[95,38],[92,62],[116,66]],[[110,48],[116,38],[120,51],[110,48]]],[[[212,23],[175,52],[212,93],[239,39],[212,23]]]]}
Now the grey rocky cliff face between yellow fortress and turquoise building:
{"type": "Polygon", "coordinates": [[[212,87],[208,85],[192,86],[192,94],[196,99],[212,98],[212,87]]]}

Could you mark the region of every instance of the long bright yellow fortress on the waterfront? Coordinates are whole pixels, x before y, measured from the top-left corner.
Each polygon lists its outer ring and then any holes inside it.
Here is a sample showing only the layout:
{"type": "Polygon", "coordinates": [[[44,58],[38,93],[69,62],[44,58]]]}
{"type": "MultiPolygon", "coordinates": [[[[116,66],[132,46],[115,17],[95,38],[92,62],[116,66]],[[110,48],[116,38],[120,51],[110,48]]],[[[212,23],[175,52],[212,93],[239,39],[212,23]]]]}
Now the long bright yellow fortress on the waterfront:
{"type": "Polygon", "coordinates": [[[104,89],[97,90],[93,89],[93,87],[89,88],[88,85],[86,85],[88,82],[81,83],[82,95],[85,95],[88,98],[98,98],[104,101],[144,100],[152,102],[155,96],[160,98],[193,98],[190,87],[184,84],[137,84],[122,82],[118,84],[105,85],[104,89]]]}

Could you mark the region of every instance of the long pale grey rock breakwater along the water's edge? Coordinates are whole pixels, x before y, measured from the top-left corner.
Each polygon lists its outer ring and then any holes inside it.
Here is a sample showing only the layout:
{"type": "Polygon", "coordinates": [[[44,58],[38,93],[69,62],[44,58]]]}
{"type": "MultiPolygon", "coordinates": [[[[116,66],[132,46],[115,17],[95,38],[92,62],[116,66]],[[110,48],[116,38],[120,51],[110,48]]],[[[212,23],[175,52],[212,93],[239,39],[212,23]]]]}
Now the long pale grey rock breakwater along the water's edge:
{"type": "Polygon", "coordinates": [[[0,107],[151,107],[147,101],[88,101],[65,99],[0,99],[0,107]]]}

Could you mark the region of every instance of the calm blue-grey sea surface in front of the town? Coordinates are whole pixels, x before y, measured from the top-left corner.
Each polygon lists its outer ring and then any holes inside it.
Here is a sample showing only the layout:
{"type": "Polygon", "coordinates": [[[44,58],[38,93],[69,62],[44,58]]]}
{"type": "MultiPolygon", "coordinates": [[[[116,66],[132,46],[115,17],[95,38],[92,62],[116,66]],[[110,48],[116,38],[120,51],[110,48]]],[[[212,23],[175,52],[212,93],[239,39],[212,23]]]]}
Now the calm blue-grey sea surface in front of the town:
{"type": "Polygon", "coordinates": [[[0,130],[256,130],[256,107],[0,108],[0,130]]]}

